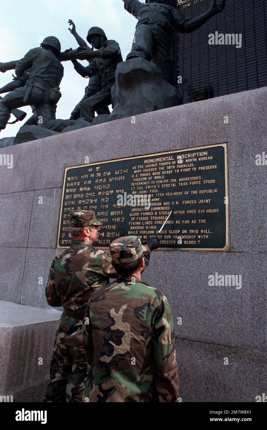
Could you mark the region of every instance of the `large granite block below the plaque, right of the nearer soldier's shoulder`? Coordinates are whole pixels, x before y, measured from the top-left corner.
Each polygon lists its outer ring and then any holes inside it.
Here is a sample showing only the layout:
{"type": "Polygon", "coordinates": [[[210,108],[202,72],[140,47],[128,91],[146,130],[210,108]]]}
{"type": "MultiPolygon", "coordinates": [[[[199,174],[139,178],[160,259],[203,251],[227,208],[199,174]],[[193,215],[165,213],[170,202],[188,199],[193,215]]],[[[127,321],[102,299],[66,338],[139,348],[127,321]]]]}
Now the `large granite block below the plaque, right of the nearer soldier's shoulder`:
{"type": "Polygon", "coordinates": [[[166,294],[179,338],[264,351],[266,267],[264,253],[156,251],[142,279],[166,294]],[[242,275],[242,288],[209,286],[216,272],[242,275]]]}

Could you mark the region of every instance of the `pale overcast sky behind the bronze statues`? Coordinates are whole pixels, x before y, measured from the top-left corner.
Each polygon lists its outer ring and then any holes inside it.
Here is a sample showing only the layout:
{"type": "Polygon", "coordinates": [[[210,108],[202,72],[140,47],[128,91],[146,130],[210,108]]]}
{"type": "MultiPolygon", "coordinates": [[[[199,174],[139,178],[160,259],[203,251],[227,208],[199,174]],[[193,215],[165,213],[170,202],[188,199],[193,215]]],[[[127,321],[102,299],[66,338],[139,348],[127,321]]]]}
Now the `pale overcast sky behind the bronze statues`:
{"type": "MultiPolygon", "coordinates": [[[[108,39],[119,42],[123,59],[131,50],[137,21],[126,12],[122,0],[1,0],[0,6],[0,61],[23,57],[29,49],[40,46],[46,36],[58,37],[62,51],[76,48],[77,42],[68,31],[69,18],[74,21],[83,39],[86,40],[90,27],[97,26],[103,28],[108,39]]],[[[83,64],[88,63],[83,61],[83,64]]],[[[88,80],[77,74],[71,61],[63,65],[62,97],[58,103],[57,118],[67,119],[83,97],[88,80]]],[[[12,73],[14,71],[0,73],[0,86],[12,80],[12,73]]],[[[30,107],[21,109],[31,114],[30,107]]],[[[11,120],[14,120],[13,116],[11,120]]],[[[22,124],[23,121],[7,125],[1,131],[0,138],[15,136],[22,124]]]]}

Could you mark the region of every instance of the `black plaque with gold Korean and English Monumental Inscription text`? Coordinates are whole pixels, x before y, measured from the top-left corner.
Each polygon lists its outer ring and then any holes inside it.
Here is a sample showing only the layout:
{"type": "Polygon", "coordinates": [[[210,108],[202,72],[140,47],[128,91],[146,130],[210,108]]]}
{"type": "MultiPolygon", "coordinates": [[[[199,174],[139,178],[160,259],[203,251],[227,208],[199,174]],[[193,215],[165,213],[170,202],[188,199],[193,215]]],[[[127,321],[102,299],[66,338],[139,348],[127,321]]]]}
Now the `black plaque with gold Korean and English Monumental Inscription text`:
{"type": "Polygon", "coordinates": [[[227,143],[66,167],[58,248],[73,243],[69,213],[94,210],[104,222],[96,248],[117,237],[160,234],[160,250],[229,249],[227,143]]]}

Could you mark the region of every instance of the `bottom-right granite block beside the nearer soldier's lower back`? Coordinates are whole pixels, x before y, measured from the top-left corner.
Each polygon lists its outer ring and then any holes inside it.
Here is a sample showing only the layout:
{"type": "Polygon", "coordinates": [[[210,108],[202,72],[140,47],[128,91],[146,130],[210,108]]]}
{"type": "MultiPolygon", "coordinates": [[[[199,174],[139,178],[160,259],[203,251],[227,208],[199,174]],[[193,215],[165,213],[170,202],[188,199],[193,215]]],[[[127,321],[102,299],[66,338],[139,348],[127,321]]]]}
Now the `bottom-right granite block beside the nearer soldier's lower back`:
{"type": "Polygon", "coordinates": [[[182,402],[255,402],[266,393],[266,354],[182,339],[175,344],[182,402]]]}

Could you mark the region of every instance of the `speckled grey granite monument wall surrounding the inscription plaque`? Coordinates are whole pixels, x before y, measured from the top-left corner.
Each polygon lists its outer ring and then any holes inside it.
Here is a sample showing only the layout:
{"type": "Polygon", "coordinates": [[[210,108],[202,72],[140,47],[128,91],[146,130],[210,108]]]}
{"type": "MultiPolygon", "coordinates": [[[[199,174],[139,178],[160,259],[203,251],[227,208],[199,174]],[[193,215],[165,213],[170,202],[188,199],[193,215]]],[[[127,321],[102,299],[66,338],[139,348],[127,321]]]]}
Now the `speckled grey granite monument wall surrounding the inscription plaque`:
{"type": "Polygon", "coordinates": [[[228,142],[230,251],[156,251],[143,279],[172,306],[182,402],[254,402],[267,389],[266,104],[261,88],[2,148],[0,300],[49,308],[65,166],[228,142]],[[209,286],[215,273],[242,288],[209,286]]]}

